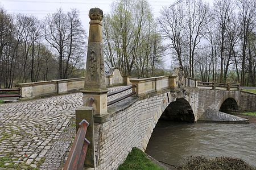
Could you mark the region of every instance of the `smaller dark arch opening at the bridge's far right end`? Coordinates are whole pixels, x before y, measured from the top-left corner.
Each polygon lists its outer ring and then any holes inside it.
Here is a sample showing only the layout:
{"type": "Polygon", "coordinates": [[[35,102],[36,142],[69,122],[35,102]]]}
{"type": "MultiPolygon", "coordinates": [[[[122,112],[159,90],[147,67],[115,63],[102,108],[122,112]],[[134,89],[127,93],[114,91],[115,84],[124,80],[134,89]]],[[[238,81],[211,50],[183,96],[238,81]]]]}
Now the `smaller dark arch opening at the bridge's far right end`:
{"type": "Polygon", "coordinates": [[[220,111],[224,113],[233,113],[238,111],[237,101],[234,98],[227,98],[222,103],[220,111]]]}

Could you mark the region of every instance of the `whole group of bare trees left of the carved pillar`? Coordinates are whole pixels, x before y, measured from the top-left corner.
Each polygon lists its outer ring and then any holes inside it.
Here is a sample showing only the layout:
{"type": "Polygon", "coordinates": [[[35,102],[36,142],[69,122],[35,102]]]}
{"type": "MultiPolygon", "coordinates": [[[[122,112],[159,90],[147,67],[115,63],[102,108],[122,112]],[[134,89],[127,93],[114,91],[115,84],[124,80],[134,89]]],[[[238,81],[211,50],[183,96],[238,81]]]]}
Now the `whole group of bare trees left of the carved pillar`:
{"type": "Polygon", "coordinates": [[[85,30],[79,11],[59,9],[39,20],[0,9],[0,87],[76,77],[84,66],[85,30]]]}

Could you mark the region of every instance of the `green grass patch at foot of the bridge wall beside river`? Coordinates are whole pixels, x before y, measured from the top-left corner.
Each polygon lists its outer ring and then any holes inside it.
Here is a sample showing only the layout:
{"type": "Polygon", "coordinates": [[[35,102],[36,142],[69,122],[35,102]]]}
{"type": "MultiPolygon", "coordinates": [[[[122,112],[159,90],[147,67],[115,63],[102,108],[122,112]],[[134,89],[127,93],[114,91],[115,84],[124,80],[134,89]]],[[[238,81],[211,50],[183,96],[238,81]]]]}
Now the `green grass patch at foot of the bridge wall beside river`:
{"type": "Polygon", "coordinates": [[[133,148],[126,157],[123,164],[119,165],[118,170],[162,170],[164,168],[152,163],[151,160],[147,159],[146,154],[138,148],[133,148]]]}

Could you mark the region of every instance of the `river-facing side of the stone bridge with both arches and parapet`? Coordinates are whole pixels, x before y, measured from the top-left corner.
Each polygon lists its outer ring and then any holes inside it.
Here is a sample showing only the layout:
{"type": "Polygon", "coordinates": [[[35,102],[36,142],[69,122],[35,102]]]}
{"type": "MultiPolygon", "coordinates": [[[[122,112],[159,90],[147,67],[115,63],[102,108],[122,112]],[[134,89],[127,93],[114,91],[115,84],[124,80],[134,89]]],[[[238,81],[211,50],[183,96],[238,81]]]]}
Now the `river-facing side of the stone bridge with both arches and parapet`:
{"type": "Polygon", "coordinates": [[[95,166],[115,169],[131,148],[146,150],[160,118],[196,122],[208,109],[256,110],[256,95],[241,92],[239,85],[197,82],[179,76],[130,80],[136,97],[108,107],[108,114],[94,115],[95,166]],[[177,82],[177,83],[176,83],[177,82]],[[118,159],[117,159],[118,157],[118,159]]]}

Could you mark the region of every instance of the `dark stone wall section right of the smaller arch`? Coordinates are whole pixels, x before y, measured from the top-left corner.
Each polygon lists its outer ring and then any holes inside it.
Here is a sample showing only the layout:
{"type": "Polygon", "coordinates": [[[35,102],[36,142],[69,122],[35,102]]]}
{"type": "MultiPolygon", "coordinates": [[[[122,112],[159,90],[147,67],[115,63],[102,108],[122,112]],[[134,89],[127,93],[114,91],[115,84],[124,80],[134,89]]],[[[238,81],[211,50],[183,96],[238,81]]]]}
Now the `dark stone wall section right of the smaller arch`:
{"type": "Polygon", "coordinates": [[[256,94],[250,92],[240,92],[240,110],[256,111],[256,94]]]}

